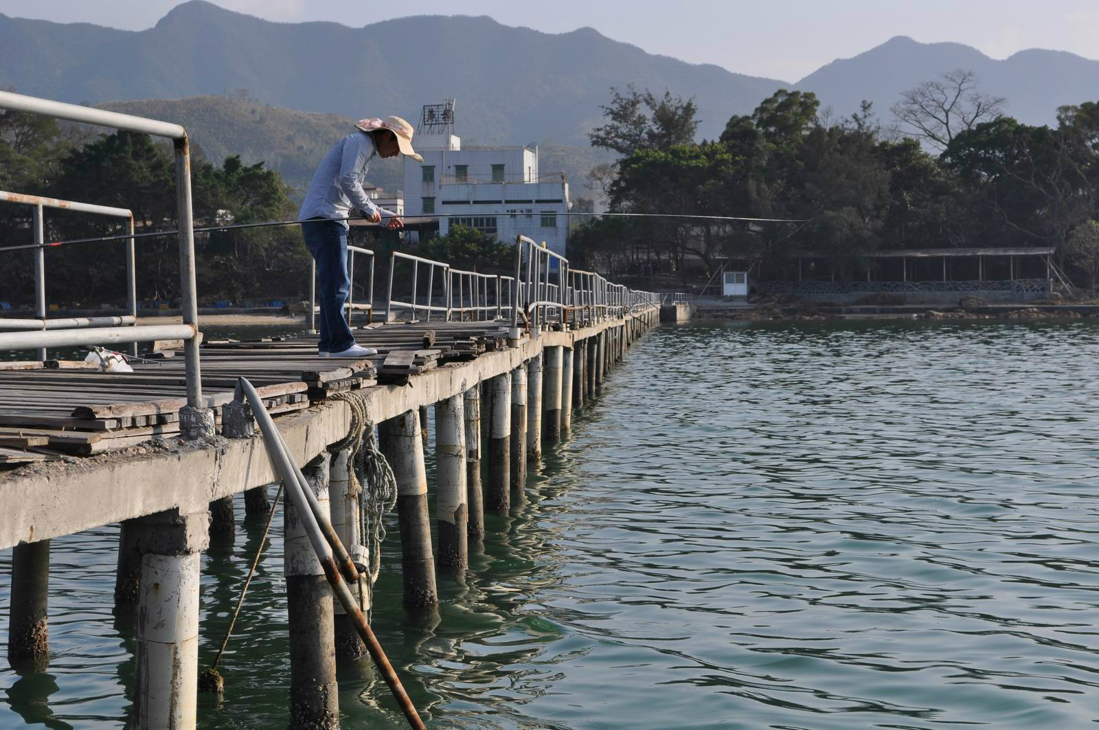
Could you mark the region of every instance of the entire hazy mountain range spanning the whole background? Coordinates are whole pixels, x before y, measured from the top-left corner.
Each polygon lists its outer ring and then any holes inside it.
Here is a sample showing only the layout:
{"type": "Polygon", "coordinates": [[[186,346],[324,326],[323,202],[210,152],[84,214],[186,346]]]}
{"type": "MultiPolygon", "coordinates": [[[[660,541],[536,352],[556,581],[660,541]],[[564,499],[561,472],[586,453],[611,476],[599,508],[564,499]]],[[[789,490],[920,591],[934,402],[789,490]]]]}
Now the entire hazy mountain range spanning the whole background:
{"type": "MultiPolygon", "coordinates": [[[[351,119],[397,113],[415,123],[422,104],[447,97],[457,99],[465,143],[537,142],[542,169],[575,176],[607,157],[587,147],[587,132],[611,87],[693,98],[699,135],[713,139],[779,88],[815,92],[834,117],[866,99],[888,123],[903,90],[955,68],[976,71],[981,90],[1006,97],[1008,113],[1026,123],[1099,99],[1097,60],[1040,49],[997,60],[904,36],[791,84],[648,54],[590,27],[550,34],[486,16],[348,27],[275,23],[191,0],[151,29],[121,31],[0,13],[0,88],[179,121],[211,158],[266,159],[299,187],[351,119]]],[[[387,170],[378,174],[388,184],[396,169],[387,170]]]]}

